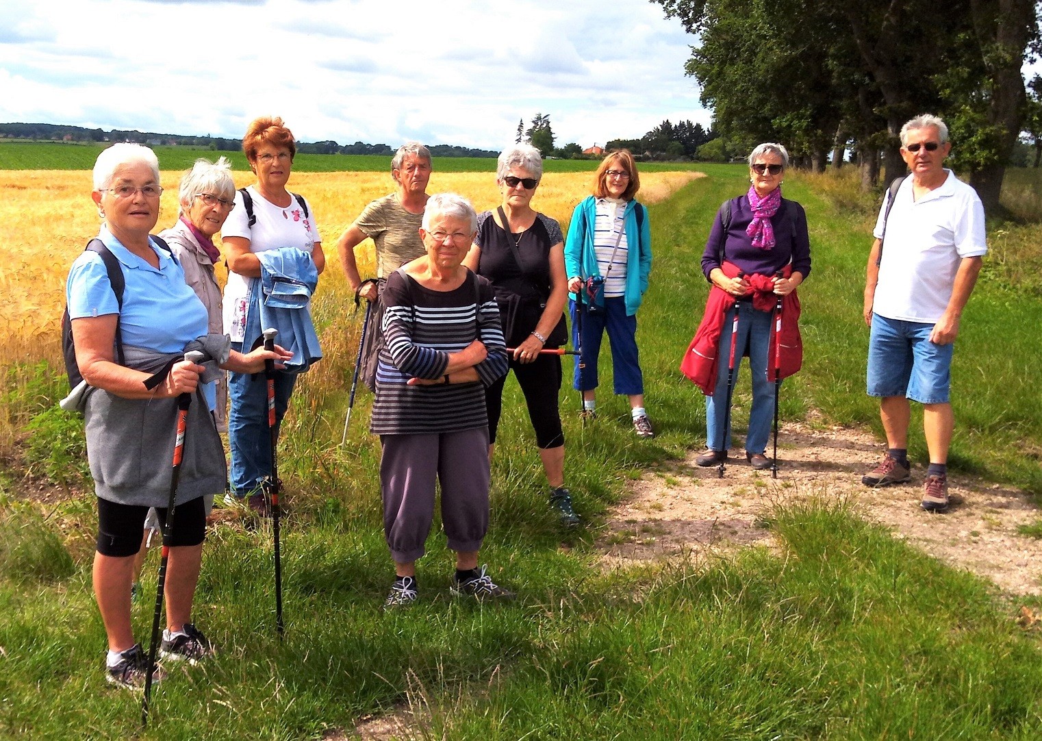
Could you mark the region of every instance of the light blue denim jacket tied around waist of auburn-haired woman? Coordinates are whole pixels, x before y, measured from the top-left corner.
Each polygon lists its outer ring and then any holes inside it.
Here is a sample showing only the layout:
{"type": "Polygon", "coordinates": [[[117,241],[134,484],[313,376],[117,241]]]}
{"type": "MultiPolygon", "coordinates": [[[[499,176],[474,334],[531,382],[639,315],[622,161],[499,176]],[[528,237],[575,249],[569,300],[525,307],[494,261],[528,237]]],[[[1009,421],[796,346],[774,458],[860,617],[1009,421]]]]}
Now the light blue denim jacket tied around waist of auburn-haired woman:
{"type": "Polygon", "coordinates": [[[257,344],[265,329],[275,328],[278,330],[275,342],[293,353],[286,372],[303,373],[322,360],[311,313],[319,271],[311,253],[296,247],[254,254],[260,261],[260,277],[250,280],[243,350],[257,344]]]}

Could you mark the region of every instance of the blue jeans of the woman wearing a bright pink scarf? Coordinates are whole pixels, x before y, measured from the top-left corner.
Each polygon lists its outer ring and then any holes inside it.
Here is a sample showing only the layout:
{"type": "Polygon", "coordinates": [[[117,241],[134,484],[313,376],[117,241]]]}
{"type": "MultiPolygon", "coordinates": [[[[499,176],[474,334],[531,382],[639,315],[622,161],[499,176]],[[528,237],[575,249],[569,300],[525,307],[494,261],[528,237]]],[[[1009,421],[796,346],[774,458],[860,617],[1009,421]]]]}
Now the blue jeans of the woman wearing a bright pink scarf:
{"type": "MultiPolygon", "coordinates": [[[[771,341],[772,312],[759,312],[749,301],[740,301],[738,307],[738,335],[735,347],[735,379],[743,354],[749,356],[752,375],[752,409],[749,410],[749,427],[745,436],[745,450],[763,453],[771,434],[774,419],[774,384],[767,380],[767,350],[771,341]]],[[[713,396],[705,397],[705,447],[713,450],[730,449],[730,429],[724,429],[727,411],[727,364],[730,360],[730,330],[735,308],[724,317],[718,350],[717,385],[713,396]],[[725,436],[725,437],[724,437],[725,436]],[[723,439],[723,444],[720,441],[723,439]]]]}

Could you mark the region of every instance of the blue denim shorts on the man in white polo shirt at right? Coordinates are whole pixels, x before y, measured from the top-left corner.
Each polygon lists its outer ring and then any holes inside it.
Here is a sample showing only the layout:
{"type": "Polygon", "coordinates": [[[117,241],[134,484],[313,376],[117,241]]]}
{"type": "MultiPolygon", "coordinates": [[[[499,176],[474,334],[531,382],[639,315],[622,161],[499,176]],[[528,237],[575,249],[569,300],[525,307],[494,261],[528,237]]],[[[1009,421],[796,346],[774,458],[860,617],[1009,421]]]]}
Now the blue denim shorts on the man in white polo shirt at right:
{"type": "Polygon", "coordinates": [[[933,324],[872,315],[869,396],[904,396],[921,404],[948,402],[954,345],[931,342],[933,329],[933,324]]]}

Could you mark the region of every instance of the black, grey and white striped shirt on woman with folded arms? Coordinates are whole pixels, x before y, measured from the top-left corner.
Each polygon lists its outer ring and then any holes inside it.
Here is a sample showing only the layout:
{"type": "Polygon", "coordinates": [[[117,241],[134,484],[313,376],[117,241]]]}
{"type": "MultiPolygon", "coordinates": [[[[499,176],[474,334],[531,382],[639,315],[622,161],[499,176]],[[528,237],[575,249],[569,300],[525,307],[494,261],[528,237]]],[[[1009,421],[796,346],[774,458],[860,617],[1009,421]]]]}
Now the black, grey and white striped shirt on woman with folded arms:
{"type": "Polygon", "coordinates": [[[460,288],[435,291],[396,270],[388,277],[381,301],[383,348],[370,430],[421,435],[487,425],[485,387],[506,373],[507,363],[489,281],[468,271],[460,288]],[[474,340],[489,353],[474,366],[480,381],[407,386],[410,378],[444,376],[449,353],[474,340]]]}

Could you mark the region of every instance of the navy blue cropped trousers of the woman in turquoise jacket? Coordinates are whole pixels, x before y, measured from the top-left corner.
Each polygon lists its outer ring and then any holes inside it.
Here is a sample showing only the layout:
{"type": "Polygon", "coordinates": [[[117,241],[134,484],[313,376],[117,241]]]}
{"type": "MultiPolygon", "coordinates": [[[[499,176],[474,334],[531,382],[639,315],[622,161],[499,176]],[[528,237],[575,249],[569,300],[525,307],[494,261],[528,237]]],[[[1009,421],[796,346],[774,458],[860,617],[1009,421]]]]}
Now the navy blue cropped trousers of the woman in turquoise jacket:
{"type": "Polygon", "coordinates": [[[582,337],[579,342],[578,324],[575,321],[575,301],[569,301],[572,316],[572,346],[582,348],[586,368],[579,370],[579,357],[575,357],[573,387],[577,391],[597,388],[597,355],[600,341],[607,329],[607,340],[612,346],[612,367],[615,376],[615,393],[627,396],[644,393],[644,375],[637,353],[637,317],[626,316],[626,299],[622,296],[604,299],[604,312],[591,314],[584,303],[582,337]]]}

